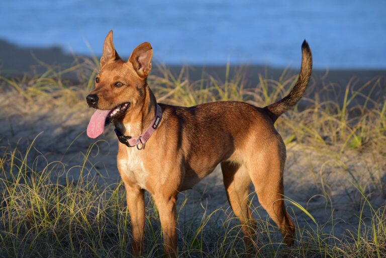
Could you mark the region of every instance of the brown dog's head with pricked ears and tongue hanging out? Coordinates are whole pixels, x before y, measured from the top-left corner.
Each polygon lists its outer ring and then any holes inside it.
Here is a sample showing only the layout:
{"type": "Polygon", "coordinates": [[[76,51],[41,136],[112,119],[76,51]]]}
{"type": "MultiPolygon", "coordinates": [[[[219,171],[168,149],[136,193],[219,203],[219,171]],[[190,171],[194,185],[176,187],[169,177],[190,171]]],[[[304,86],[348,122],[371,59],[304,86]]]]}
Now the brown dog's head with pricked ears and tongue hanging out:
{"type": "Polygon", "coordinates": [[[113,44],[113,31],[106,36],[101,70],[95,77],[95,89],[86,97],[89,107],[97,109],[87,127],[87,135],[96,138],[106,124],[120,118],[143,101],[153,50],[148,42],[137,46],[129,60],[119,57],[113,44]]]}

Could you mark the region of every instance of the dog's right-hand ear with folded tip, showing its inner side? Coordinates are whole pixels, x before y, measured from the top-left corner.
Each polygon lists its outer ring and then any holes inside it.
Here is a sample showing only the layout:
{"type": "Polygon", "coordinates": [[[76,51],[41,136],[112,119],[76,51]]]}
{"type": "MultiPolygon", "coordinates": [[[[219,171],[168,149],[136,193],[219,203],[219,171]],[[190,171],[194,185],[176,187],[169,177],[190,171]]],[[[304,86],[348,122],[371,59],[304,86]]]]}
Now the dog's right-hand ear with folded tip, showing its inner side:
{"type": "Polygon", "coordinates": [[[153,48],[149,42],[144,42],[137,46],[129,57],[129,62],[133,64],[134,69],[141,77],[146,77],[151,70],[151,58],[153,48]]]}

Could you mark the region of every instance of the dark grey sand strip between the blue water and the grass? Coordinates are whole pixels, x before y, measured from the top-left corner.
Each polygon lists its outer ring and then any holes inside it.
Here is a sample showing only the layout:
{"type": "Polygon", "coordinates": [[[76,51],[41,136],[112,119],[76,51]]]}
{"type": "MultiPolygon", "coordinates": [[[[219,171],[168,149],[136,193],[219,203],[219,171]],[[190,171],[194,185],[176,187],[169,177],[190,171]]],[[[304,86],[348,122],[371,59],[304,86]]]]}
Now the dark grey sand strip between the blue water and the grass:
{"type": "MultiPolygon", "coordinates": [[[[60,65],[61,69],[65,69],[74,64],[75,56],[65,54],[59,47],[50,48],[27,48],[19,47],[4,40],[0,40],[0,75],[15,77],[26,73],[42,73],[46,68],[39,64],[39,61],[48,65],[60,65]]],[[[157,67],[157,61],[154,62],[154,67],[157,67]]],[[[181,65],[168,65],[167,68],[174,75],[178,75],[181,65]]],[[[233,78],[235,72],[243,71],[245,75],[245,87],[256,87],[259,83],[259,75],[263,78],[278,80],[283,73],[284,68],[272,68],[261,65],[241,65],[231,66],[229,77],[233,78]]],[[[288,78],[297,74],[299,69],[289,69],[286,71],[284,78],[288,78]]],[[[226,66],[225,65],[194,65],[188,68],[189,80],[195,81],[203,78],[203,72],[211,75],[220,81],[225,80],[226,66]]],[[[157,74],[157,69],[153,69],[153,74],[157,74]]],[[[320,100],[337,100],[343,101],[346,85],[350,83],[353,90],[358,90],[368,81],[370,87],[366,87],[362,94],[368,96],[371,91],[371,86],[379,79],[376,89],[372,91],[371,99],[375,101],[384,101],[386,96],[386,70],[374,69],[342,69],[342,70],[313,70],[312,87],[308,90],[307,95],[313,98],[314,93],[323,89],[325,85],[334,83],[336,85],[336,93],[324,91],[320,94],[320,100]]],[[[75,74],[67,73],[63,77],[67,79],[76,79],[75,74]]],[[[205,77],[205,76],[204,76],[205,77]]],[[[352,103],[358,104],[358,103],[352,103]]]]}

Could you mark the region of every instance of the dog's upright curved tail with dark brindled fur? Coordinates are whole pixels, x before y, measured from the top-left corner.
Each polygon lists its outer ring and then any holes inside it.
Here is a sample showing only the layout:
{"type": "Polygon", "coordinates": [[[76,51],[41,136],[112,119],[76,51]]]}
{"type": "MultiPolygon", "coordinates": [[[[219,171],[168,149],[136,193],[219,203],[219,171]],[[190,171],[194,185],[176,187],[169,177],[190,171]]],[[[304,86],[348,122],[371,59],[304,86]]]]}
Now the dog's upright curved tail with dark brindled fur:
{"type": "Polygon", "coordinates": [[[285,111],[294,107],[295,104],[302,98],[307,89],[308,82],[310,81],[311,70],[312,54],[310,46],[305,40],[302,44],[302,66],[300,68],[298,81],[296,82],[294,89],[292,89],[292,91],[283,99],[265,107],[268,109],[273,122],[276,121],[276,119],[285,111]]]}

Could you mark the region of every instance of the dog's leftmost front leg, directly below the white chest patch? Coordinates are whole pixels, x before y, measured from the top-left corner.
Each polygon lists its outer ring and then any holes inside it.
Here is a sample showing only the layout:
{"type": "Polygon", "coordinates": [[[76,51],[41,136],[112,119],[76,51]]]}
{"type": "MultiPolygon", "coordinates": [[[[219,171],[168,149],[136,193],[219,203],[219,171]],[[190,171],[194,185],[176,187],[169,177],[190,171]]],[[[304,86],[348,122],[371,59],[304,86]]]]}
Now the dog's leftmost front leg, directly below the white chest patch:
{"type": "Polygon", "coordinates": [[[127,208],[131,217],[133,235],[133,254],[142,256],[144,249],[143,235],[145,228],[145,191],[125,183],[127,208]]]}

